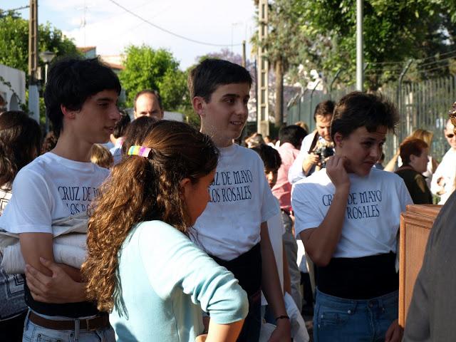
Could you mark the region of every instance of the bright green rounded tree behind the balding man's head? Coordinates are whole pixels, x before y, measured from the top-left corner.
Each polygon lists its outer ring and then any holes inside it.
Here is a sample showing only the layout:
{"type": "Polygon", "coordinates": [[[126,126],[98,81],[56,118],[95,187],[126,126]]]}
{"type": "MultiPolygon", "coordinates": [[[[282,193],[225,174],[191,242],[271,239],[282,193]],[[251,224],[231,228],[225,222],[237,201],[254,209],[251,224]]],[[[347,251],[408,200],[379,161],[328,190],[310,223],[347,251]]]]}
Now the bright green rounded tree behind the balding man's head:
{"type": "MultiPolygon", "coordinates": [[[[125,56],[125,69],[120,72],[119,78],[125,88],[128,105],[133,105],[133,98],[140,90],[154,89],[160,95],[162,95],[161,86],[170,90],[172,78],[179,71],[179,63],[170,51],[162,48],[154,50],[147,45],[130,45],[125,48],[125,56]]],[[[176,96],[171,95],[169,91],[166,93],[165,109],[170,109],[167,108],[167,101],[175,105],[175,98],[176,96]]]]}

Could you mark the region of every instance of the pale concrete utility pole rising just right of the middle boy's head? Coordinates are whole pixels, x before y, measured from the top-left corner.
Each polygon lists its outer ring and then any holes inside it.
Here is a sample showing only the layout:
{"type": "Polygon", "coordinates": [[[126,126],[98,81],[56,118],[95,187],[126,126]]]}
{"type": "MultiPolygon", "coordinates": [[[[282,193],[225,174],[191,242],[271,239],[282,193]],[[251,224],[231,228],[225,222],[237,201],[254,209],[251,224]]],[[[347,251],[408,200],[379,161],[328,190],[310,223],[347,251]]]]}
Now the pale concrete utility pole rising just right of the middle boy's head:
{"type": "Polygon", "coordinates": [[[268,36],[268,0],[258,1],[258,52],[257,52],[257,132],[269,135],[269,62],[264,40],[268,36]]]}

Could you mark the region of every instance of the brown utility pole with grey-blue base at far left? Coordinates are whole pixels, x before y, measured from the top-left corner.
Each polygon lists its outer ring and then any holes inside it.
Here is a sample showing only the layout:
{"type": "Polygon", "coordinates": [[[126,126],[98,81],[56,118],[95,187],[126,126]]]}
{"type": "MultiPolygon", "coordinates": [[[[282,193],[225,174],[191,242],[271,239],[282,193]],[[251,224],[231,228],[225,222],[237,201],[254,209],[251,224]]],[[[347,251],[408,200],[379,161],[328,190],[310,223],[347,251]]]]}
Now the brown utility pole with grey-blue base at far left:
{"type": "Polygon", "coordinates": [[[28,110],[40,122],[38,93],[38,0],[30,0],[28,20],[28,110]]]}

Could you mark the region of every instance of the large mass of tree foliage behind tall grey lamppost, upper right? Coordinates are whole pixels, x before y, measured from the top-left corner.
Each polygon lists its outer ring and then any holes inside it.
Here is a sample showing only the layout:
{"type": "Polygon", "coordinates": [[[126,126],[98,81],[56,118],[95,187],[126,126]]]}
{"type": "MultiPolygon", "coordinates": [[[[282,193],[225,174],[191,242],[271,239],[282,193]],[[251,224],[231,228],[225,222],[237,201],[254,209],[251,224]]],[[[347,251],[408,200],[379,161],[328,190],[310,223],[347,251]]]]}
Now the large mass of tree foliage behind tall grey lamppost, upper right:
{"type": "MultiPolygon", "coordinates": [[[[436,65],[445,64],[431,56],[455,50],[455,1],[365,0],[363,11],[369,88],[397,78],[409,58],[426,58],[426,63],[415,63],[421,76],[431,71],[425,64],[436,72],[436,65]]],[[[295,70],[302,64],[328,76],[342,69],[341,81],[355,81],[356,0],[276,0],[269,21],[267,47],[273,61],[282,54],[295,70]]]]}

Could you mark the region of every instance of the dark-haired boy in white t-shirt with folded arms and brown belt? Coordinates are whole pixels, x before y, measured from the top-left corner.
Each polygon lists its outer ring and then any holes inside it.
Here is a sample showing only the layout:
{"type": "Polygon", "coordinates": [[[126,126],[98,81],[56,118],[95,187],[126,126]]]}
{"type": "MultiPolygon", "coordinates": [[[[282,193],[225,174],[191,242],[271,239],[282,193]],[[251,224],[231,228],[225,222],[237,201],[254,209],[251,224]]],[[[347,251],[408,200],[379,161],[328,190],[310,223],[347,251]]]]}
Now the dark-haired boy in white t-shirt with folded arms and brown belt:
{"type": "Polygon", "coordinates": [[[0,217],[19,234],[27,264],[24,341],[114,341],[108,316],[86,301],[80,270],[53,262],[51,225],[86,212],[108,177],[90,162],[90,149],[113,133],[119,93],[118,77],[97,58],[58,61],[49,71],[44,100],[57,145],[19,172],[0,217]]]}

